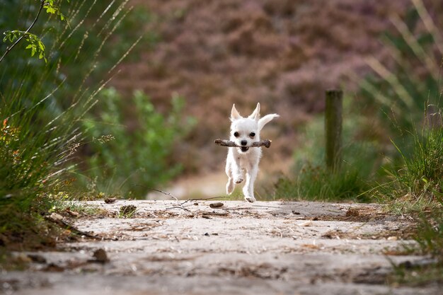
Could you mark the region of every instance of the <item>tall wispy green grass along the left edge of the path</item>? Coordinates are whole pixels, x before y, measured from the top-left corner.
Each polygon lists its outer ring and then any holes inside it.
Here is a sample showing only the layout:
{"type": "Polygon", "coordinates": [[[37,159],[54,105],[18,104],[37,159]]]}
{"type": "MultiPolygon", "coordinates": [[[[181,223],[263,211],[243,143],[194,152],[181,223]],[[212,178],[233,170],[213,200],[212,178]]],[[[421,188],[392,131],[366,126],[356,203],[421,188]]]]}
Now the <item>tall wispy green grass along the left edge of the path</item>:
{"type": "MultiPolygon", "coordinates": [[[[20,47],[14,48],[2,62],[0,233],[30,226],[24,221],[47,212],[52,192],[66,184],[64,175],[73,168],[71,160],[84,137],[79,120],[96,104],[98,93],[109,81],[110,70],[126,55],[122,52],[106,71],[100,71],[104,78],[91,84],[100,54],[113,47],[111,37],[127,16],[126,3],[110,2],[92,23],[88,16],[97,1],[63,3],[69,23],[47,17],[36,27],[46,45],[47,64],[28,57],[28,52],[20,47]],[[100,29],[100,42],[94,40],[91,47],[86,47],[88,40],[96,36],[74,35],[81,30],[87,32],[91,26],[100,29]],[[84,71],[72,74],[70,69],[84,62],[84,71]],[[73,86],[75,91],[69,91],[73,86]]],[[[23,28],[34,12],[35,1],[11,1],[8,11],[0,13],[0,31],[11,29],[6,25],[23,28]]],[[[3,45],[0,49],[4,48],[3,45]]]]}

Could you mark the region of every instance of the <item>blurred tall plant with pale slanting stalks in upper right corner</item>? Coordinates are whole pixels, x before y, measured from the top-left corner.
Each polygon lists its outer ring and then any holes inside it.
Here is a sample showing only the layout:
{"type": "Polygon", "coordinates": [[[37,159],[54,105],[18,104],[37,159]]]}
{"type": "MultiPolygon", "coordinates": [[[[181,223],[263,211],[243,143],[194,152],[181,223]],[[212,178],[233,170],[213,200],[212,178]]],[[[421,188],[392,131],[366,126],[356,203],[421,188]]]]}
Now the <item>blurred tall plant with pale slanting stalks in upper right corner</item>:
{"type": "Polygon", "coordinates": [[[438,65],[443,56],[439,21],[443,20],[432,18],[422,0],[412,2],[404,19],[391,17],[396,31],[386,31],[381,37],[393,66],[369,57],[367,64],[374,74],[359,81],[364,106],[376,105],[368,108],[367,115],[385,126],[385,138],[403,137],[405,130],[421,122],[427,104],[437,104],[439,98],[438,65]]]}

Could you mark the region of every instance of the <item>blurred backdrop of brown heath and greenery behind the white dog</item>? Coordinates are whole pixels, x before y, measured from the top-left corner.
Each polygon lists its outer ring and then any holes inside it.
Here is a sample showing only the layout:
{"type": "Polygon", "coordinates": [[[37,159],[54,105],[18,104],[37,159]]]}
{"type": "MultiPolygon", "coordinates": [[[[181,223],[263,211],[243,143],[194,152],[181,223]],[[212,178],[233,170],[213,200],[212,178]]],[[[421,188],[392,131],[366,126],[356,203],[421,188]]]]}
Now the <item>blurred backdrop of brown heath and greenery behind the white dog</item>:
{"type": "MultiPolygon", "coordinates": [[[[0,5],[4,32],[28,28],[40,3],[0,5]]],[[[23,42],[0,63],[4,195],[28,187],[24,179],[78,199],[168,197],[153,189],[224,195],[226,149],[213,141],[228,138],[233,103],[248,115],[260,102],[262,115],[281,117],[263,129],[272,146],[260,163],[258,199],[367,202],[386,167],[401,160],[393,142],[407,154],[408,131],[439,110],[441,0],[59,1],[59,8],[68,21],[42,15],[33,27],[47,62],[30,57],[23,42]],[[343,167],[335,175],[323,164],[330,88],[345,93],[343,167]]]]}

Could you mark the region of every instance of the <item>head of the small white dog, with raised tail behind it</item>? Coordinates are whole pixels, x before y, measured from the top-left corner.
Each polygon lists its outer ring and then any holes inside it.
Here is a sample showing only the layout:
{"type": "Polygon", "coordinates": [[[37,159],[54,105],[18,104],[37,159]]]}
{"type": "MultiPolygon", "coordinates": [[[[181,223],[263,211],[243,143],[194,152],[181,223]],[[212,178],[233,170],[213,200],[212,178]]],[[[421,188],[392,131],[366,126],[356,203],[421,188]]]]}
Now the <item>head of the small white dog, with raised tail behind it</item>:
{"type": "Polygon", "coordinates": [[[254,141],[260,141],[260,131],[272,119],[280,117],[277,114],[265,115],[260,118],[260,103],[257,103],[257,108],[248,117],[241,117],[236,110],[236,105],[232,105],[231,110],[231,137],[240,148],[237,148],[241,153],[248,153],[249,147],[254,141]]]}

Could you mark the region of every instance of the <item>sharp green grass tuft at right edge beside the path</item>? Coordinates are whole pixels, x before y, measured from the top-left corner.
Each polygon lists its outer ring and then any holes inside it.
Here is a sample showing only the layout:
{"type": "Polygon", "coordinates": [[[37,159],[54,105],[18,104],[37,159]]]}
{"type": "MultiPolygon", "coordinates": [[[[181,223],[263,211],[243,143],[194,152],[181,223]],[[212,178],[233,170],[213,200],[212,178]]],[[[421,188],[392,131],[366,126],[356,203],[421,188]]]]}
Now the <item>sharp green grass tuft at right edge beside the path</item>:
{"type": "Polygon", "coordinates": [[[443,283],[443,120],[442,108],[425,115],[419,132],[411,132],[413,144],[395,144],[403,163],[393,166],[391,181],[378,197],[392,212],[415,217],[418,253],[434,259],[427,265],[395,267],[391,284],[422,286],[443,283]],[[432,119],[432,120],[431,120],[432,119]],[[411,151],[408,153],[408,151],[411,151]]]}

